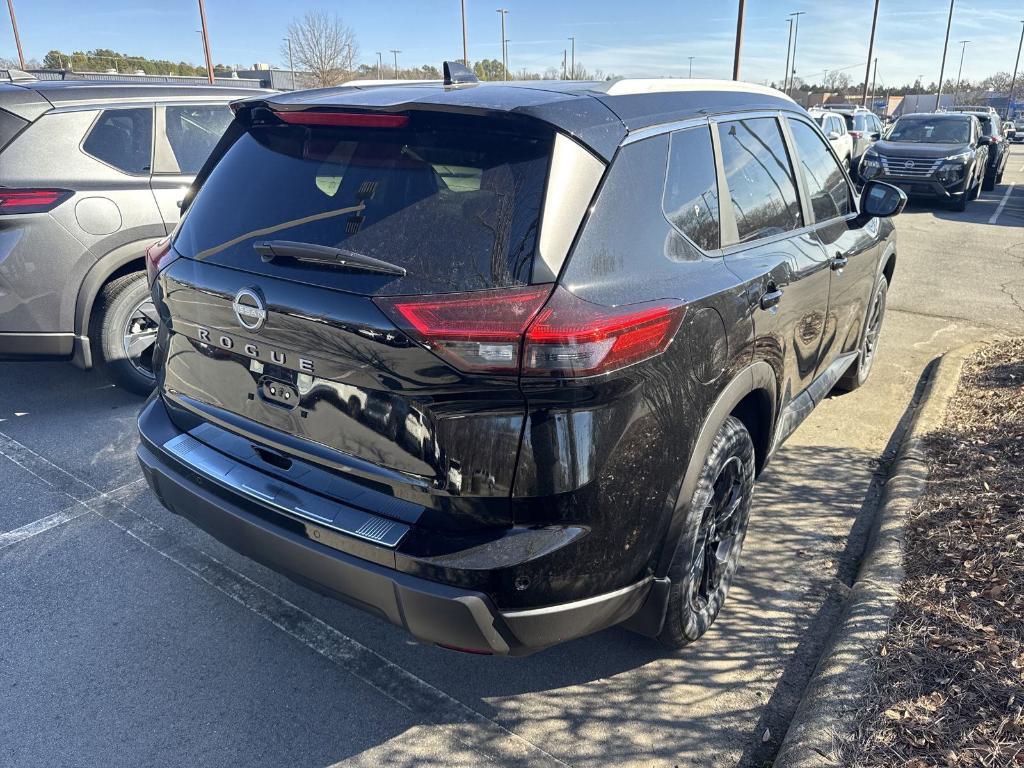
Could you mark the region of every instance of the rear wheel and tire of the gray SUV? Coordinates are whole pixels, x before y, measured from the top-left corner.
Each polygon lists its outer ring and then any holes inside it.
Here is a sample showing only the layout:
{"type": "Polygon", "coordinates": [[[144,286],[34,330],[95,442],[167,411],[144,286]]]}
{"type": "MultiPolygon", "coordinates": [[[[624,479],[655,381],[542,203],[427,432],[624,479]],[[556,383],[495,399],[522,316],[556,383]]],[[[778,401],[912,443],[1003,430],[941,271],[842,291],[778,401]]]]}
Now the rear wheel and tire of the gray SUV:
{"type": "Polygon", "coordinates": [[[119,387],[143,396],[153,391],[157,326],[145,272],[123,274],[103,286],[89,324],[89,340],[98,368],[119,387]]]}

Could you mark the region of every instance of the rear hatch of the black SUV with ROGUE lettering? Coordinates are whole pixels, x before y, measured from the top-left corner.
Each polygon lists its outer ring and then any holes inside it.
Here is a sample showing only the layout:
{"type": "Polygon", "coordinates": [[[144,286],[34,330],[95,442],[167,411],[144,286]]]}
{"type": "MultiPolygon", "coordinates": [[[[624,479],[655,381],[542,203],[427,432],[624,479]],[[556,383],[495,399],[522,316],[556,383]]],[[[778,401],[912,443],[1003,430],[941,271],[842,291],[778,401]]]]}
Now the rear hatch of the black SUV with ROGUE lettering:
{"type": "Polygon", "coordinates": [[[507,524],[525,403],[502,323],[550,293],[529,280],[552,129],[256,108],[233,134],[159,276],[165,397],[444,524],[507,524]],[[481,325],[494,344],[459,341],[481,325]]]}

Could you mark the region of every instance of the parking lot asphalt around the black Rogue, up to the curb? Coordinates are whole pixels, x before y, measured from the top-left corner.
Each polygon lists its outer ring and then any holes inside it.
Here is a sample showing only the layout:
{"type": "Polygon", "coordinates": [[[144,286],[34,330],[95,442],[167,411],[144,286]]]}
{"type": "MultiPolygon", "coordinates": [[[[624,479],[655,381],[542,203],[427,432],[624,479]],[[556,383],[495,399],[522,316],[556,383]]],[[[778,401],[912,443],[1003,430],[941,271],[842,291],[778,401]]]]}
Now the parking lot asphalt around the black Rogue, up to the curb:
{"type": "Polygon", "coordinates": [[[522,659],[416,643],[166,512],[141,400],[0,365],[0,765],[760,766],[855,573],[927,365],[1024,334],[1024,146],[966,213],[911,205],[880,356],[759,483],[709,634],[621,629],[522,659]]]}

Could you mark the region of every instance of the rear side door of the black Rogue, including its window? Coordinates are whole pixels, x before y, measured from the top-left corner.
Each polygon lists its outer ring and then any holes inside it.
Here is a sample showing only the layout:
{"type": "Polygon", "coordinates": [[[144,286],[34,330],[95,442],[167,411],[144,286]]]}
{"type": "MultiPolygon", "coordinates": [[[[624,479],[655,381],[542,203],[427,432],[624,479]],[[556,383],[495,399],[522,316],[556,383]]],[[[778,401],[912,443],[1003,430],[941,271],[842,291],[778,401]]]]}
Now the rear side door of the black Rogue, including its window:
{"type": "Polygon", "coordinates": [[[723,118],[716,126],[731,209],[723,216],[725,260],[746,286],[756,345],[776,368],[784,406],[818,367],[828,261],[808,227],[778,116],[723,118]]]}

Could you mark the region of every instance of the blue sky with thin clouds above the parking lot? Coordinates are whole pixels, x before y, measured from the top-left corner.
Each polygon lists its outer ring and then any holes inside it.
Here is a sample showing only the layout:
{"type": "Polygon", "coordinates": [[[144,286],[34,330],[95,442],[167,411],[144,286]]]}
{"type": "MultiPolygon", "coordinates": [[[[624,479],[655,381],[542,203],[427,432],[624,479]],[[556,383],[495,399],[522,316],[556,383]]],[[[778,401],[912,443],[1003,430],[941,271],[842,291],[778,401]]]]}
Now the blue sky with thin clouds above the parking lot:
{"type": "MultiPolygon", "coordinates": [[[[588,70],[631,77],[729,78],[738,0],[466,0],[469,57],[500,58],[500,17],[509,9],[509,67],[561,68],[575,37],[577,61],[588,70]]],[[[462,57],[459,0],[206,0],[215,62],[282,63],[289,22],[310,9],[336,12],[355,32],[359,61],[376,51],[401,67],[462,57]]],[[[880,85],[926,84],[939,77],[948,4],[945,0],[881,0],[876,38],[880,85]]],[[[150,58],[202,63],[198,0],[14,0],[27,57],[112,48],[150,58]],[[85,10],[89,8],[89,10],[85,10]]],[[[788,23],[800,17],[797,75],[820,80],[842,70],[862,82],[872,0],[748,0],[740,76],[780,81],[788,23]]],[[[946,78],[955,78],[961,40],[970,40],[965,79],[1012,71],[1024,6],[1019,0],[957,0],[946,78]]],[[[10,27],[0,14],[0,55],[15,57],[10,27]]]]}

